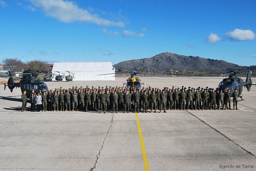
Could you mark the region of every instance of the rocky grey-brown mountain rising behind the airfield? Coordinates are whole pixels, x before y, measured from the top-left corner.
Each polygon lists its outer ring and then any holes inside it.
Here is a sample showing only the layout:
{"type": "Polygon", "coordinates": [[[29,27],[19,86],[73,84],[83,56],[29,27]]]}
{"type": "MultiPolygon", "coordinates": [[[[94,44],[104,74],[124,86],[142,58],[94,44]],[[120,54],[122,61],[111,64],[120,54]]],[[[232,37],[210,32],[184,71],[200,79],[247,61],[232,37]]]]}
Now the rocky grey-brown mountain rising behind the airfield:
{"type": "Polygon", "coordinates": [[[151,58],[133,59],[114,65],[116,70],[143,71],[150,73],[166,73],[178,75],[225,73],[228,71],[246,72],[248,69],[256,71],[256,66],[239,66],[223,60],[206,59],[178,55],[173,53],[161,53],[151,58]]]}

